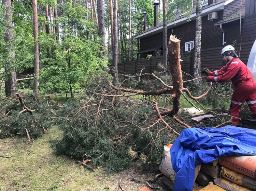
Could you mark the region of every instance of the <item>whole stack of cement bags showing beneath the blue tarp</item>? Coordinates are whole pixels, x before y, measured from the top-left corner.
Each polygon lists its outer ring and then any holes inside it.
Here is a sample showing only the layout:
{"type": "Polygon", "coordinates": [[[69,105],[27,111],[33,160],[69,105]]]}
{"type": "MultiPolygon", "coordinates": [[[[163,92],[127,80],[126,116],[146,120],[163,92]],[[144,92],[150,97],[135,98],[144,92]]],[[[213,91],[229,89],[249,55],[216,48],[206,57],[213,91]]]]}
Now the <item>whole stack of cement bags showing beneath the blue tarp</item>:
{"type": "MultiPolygon", "coordinates": [[[[163,184],[173,191],[175,171],[170,148],[164,146],[159,170],[165,175],[163,184]]],[[[193,191],[256,191],[256,156],[222,157],[195,168],[193,191]]]]}

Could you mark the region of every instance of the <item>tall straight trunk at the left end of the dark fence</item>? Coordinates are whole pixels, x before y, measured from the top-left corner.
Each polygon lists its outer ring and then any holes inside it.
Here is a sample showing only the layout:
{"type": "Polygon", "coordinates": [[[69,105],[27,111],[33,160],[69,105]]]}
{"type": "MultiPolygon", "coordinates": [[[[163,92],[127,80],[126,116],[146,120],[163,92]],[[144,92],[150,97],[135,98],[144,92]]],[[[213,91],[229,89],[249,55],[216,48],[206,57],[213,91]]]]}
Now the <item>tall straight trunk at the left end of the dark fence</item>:
{"type": "Polygon", "coordinates": [[[114,32],[114,45],[113,45],[113,65],[114,65],[114,79],[118,84],[118,36],[117,36],[117,0],[114,0],[114,14],[113,14],[113,32],[114,32]]]}

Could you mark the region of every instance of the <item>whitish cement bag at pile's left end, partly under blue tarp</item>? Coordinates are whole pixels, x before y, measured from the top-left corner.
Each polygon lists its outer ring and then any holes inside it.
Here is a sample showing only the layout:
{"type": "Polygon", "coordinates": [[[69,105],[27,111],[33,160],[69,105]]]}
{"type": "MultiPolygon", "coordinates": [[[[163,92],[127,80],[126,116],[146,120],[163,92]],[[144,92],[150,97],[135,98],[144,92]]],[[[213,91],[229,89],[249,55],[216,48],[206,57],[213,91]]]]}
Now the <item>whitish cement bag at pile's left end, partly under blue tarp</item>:
{"type": "MultiPolygon", "coordinates": [[[[170,153],[171,146],[172,144],[167,144],[163,147],[163,156],[162,156],[161,164],[159,166],[159,170],[165,176],[170,178],[170,180],[174,183],[176,172],[172,168],[171,153],[170,153]]],[[[194,183],[196,181],[196,177],[199,171],[200,171],[200,165],[195,168],[194,183]]]]}

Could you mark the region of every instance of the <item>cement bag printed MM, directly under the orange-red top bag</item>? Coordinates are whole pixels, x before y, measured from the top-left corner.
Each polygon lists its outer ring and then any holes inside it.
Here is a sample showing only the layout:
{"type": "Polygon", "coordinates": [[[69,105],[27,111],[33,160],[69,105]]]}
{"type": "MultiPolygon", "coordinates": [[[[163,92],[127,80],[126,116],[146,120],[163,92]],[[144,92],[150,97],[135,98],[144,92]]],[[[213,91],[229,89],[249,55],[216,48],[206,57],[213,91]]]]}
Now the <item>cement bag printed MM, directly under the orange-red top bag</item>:
{"type": "Polygon", "coordinates": [[[244,186],[246,188],[250,188],[256,190],[256,180],[245,176],[244,174],[240,174],[238,172],[232,171],[226,167],[221,168],[221,174],[223,178],[236,183],[238,185],[244,186]]]}

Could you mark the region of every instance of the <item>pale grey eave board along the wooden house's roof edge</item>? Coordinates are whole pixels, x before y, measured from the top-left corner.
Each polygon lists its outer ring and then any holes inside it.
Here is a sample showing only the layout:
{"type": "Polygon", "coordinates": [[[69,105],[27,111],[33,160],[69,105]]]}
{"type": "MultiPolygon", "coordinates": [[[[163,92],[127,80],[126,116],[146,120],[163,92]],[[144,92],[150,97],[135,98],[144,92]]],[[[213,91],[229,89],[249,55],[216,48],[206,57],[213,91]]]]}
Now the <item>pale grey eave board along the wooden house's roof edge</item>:
{"type": "MultiPolygon", "coordinates": [[[[211,12],[223,10],[224,5],[227,5],[227,4],[231,3],[232,1],[234,1],[234,0],[227,0],[227,1],[224,1],[224,2],[221,2],[221,3],[218,3],[216,5],[210,6],[208,8],[205,8],[204,10],[202,10],[202,17],[211,13],[211,12]]],[[[181,25],[183,23],[186,23],[188,19],[195,20],[196,19],[196,13],[191,14],[189,18],[188,17],[183,17],[183,18],[180,18],[180,19],[177,19],[173,22],[168,23],[167,24],[167,29],[170,29],[174,26],[176,27],[177,25],[181,25]]],[[[155,29],[152,29],[150,31],[146,31],[144,33],[138,34],[138,35],[134,36],[133,39],[144,38],[144,37],[147,37],[147,36],[151,36],[153,34],[160,33],[162,31],[163,31],[163,26],[161,25],[161,26],[159,26],[155,29]]]]}

